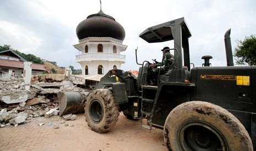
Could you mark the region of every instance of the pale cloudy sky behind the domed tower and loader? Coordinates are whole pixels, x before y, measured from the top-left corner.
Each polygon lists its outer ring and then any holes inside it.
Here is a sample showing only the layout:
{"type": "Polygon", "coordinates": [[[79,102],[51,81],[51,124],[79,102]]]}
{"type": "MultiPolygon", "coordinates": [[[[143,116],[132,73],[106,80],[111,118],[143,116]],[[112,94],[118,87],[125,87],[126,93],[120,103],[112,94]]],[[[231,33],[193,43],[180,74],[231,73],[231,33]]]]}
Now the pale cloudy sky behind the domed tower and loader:
{"type": "MultiPolygon", "coordinates": [[[[201,66],[211,55],[212,66],[226,66],[224,34],[231,28],[232,50],[237,40],[256,34],[255,0],[101,0],[102,11],[115,18],[126,31],[124,71],[138,70],[138,62],[161,60],[161,49],[173,48],[173,41],[147,43],[139,37],[146,28],[184,17],[189,38],[190,62],[201,66]]],[[[58,66],[74,66],[80,51],[76,28],[87,16],[100,11],[98,0],[0,0],[0,45],[10,45],[21,53],[56,61],[58,66]]],[[[234,59],[235,62],[235,59],[234,59]]]]}

